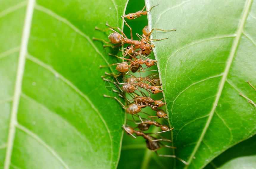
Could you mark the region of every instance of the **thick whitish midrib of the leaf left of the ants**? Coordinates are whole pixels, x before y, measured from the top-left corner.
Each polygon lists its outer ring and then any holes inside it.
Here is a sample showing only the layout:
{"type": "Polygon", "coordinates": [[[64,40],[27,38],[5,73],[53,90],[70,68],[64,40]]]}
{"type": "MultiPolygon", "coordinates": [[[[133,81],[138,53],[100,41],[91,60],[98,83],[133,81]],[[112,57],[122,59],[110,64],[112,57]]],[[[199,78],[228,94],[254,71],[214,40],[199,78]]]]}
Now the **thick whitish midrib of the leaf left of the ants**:
{"type": "Polygon", "coordinates": [[[21,49],[19,53],[17,75],[15,79],[13,105],[12,105],[11,116],[10,116],[7,149],[6,149],[5,160],[4,160],[4,169],[9,169],[10,162],[11,162],[13,142],[15,138],[15,126],[17,125],[18,105],[19,105],[19,100],[21,96],[21,85],[22,85],[22,78],[23,78],[23,73],[25,68],[25,60],[26,60],[27,46],[29,41],[30,28],[32,23],[32,16],[34,11],[34,4],[35,4],[35,0],[28,1],[26,14],[25,14],[25,21],[24,21],[23,32],[21,37],[21,49]]]}

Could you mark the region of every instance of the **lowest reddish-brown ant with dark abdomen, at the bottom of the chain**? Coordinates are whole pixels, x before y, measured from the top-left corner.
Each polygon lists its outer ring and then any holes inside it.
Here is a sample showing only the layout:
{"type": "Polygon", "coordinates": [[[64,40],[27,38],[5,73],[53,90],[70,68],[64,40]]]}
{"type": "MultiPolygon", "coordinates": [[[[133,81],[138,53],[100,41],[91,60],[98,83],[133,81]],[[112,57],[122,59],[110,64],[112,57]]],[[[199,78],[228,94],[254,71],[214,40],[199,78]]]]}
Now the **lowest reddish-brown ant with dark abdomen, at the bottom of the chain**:
{"type": "MultiPolygon", "coordinates": [[[[160,157],[173,157],[176,158],[177,160],[183,162],[184,164],[188,165],[187,162],[185,162],[184,160],[180,159],[179,157],[176,157],[175,155],[163,155],[163,154],[158,154],[157,150],[163,148],[163,147],[168,147],[171,149],[176,149],[176,147],[171,147],[171,146],[167,146],[167,145],[163,145],[162,143],[160,143],[159,141],[167,141],[167,142],[171,142],[171,140],[168,139],[157,139],[154,138],[148,134],[143,133],[142,131],[139,130],[134,130],[132,127],[125,127],[124,125],[122,126],[123,129],[125,130],[125,132],[127,133],[127,135],[131,135],[133,138],[136,138],[133,133],[135,133],[137,136],[142,136],[143,138],[146,139],[146,146],[148,149],[152,150],[152,152],[156,152],[157,156],[160,157]],[[162,146],[160,146],[160,144],[162,146]]],[[[161,136],[160,136],[161,137],[161,136]]]]}

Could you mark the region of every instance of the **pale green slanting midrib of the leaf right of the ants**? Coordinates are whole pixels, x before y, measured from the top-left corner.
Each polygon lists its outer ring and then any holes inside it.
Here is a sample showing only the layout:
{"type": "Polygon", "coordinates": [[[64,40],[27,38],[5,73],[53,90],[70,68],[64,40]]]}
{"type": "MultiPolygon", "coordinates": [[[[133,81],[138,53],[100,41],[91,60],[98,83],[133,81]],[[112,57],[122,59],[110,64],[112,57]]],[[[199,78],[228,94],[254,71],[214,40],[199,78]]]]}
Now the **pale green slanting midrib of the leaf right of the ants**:
{"type": "Polygon", "coordinates": [[[230,52],[230,56],[228,58],[228,62],[227,62],[227,66],[224,70],[224,73],[223,73],[223,76],[222,76],[222,79],[221,79],[221,83],[220,83],[220,87],[219,87],[219,90],[218,90],[218,93],[216,95],[216,99],[213,103],[213,108],[211,109],[210,111],[210,116],[206,122],[206,125],[202,131],[202,134],[193,150],[193,152],[191,153],[191,156],[189,157],[189,160],[188,160],[188,165],[185,166],[184,169],[187,169],[188,166],[191,164],[191,161],[194,157],[194,155],[196,154],[201,142],[202,142],[202,139],[204,138],[205,136],[205,133],[210,125],[210,122],[211,122],[211,119],[213,117],[213,114],[214,114],[214,111],[217,107],[217,104],[218,104],[218,101],[219,101],[219,98],[221,96],[221,93],[222,93],[222,90],[223,90],[223,87],[224,87],[224,84],[226,82],[226,79],[227,79],[227,75],[229,73],[229,70],[230,70],[230,66],[232,64],[232,61],[233,61],[233,58],[234,58],[234,55],[235,55],[235,52],[236,52],[236,49],[238,47],[238,43],[241,39],[241,35],[243,33],[243,27],[244,27],[244,24],[245,24],[245,21],[246,21],[246,18],[247,18],[247,15],[249,13],[249,8],[251,7],[251,4],[252,4],[252,0],[248,0],[247,3],[246,3],[246,6],[245,6],[245,9],[244,9],[244,12],[243,12],[243,16],[242,16],[242,19],[241,19],[241,23],[239,24],[239,27],[238,27],[238,31],[237,31],[237,36],[235,37],[235,40],[233,42],[233,45],[232,45],[232,48],[231,48],[231,52],[230,52]]]}

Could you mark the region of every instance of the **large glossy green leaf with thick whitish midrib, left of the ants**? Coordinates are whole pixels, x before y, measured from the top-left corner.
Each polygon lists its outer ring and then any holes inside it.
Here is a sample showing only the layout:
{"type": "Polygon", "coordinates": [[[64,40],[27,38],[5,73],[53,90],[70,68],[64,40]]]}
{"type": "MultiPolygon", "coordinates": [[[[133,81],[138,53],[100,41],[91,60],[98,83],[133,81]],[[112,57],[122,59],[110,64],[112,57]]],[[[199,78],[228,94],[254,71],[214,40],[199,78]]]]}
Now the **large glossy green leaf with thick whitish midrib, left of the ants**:
{"type": "MultiPolygon", "coordinates": [[[[126,1],[0,2],[0,168],[116,168],[124,110],[100,69],[126,1]]],[[[115,72],[113,72],[115,73],[115,72]]]]}

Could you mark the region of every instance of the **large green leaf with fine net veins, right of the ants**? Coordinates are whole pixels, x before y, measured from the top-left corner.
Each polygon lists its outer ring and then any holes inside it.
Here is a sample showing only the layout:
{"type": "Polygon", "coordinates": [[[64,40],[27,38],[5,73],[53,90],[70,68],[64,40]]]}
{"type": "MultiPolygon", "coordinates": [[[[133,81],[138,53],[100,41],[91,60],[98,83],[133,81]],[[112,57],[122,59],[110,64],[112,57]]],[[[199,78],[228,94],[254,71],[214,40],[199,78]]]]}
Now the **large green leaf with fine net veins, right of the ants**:
{"type": "Polygon", "coordinates": [[[173,132],[176,168],[204,168],[255,135],[256,2],[146,1],[173,132]]]}

